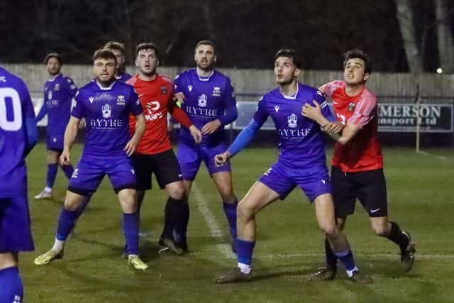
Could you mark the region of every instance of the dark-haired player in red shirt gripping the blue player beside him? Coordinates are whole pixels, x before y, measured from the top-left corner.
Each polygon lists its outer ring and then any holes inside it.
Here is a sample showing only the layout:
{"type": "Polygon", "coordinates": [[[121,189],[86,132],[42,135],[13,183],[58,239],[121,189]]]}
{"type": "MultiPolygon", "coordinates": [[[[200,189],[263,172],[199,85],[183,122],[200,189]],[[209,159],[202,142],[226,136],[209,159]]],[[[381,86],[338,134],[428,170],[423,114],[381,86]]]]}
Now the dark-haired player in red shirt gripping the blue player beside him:
{"type": "MultiPolygon", "coordinates": [[[[329,82],[319,89],[333,99],[338,121],[330,123],[323,118],[320,106],[306,104],[303,116],[317,121],[336,138],[331,167],[331,184],[338,226],[343,229],[347,216],[355,211],[356,199],[370,218],[370,226],[377,236],[396,243],[400,248],[401,263],[405,271],[414,263],[414,243],[409,233],[388,220],[387,190],[383,173],[382,147],[377,134],[377,98],[366,87],[372,71],[371,62],[362,50],[349,50],[344,54],[343,80],[329,82]],[[338,124],[345,126],[341,135],[332,131],[338,124]]],[[[336,277],[337,258],[325,241],[326,268],[319,268],[317,280],[336,277]]]]}

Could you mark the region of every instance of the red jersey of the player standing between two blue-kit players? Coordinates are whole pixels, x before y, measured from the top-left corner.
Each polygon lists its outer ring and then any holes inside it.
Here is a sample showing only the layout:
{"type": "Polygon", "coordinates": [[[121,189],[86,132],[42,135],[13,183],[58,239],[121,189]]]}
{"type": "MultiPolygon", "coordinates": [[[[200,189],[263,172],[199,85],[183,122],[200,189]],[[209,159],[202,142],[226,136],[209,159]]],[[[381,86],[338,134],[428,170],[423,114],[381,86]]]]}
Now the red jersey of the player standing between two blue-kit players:
{"type": "MultiPolygon", "coordinates": [[[[140,139],[136,153],[144,155],[154,155],[170,150],[170,138],[167,133],[167,113],[182,124],[189,128],[192,122],[189,120],[184,111],[175,106],[173,98],[172,79],[162,75],[156,75],[151,81],[139,79],[138,75],[131,77],[126,81],[132,85],[138,94],[140,104],[143,107],[143,116],[147,123],[145,133],[140,139]]],[[[129,117],[129,133],[133,136],[135,131],[135,117],[129,117]]]]}

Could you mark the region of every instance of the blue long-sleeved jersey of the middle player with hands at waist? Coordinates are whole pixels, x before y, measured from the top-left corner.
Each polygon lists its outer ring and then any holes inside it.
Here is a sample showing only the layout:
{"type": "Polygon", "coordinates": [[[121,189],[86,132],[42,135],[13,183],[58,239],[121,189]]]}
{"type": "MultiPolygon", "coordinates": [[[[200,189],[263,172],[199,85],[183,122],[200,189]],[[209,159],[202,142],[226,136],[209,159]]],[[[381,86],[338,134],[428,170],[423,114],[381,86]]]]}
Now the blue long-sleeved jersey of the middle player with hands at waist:
{"type": "MultiPolygon", "coordinates": [[[[236,120],[235,92],[231,80],[216,70],[209,77],[200,77],[196,69],[182,72],[175,78],[175,93],[186,97],[182,109],[194,125],[201,129],[207,122],[219,119],[221,126],[211,135],[204,135],[201,145],[218,145],[225,139],[224,126],[236,120]]],[[[179,140],[194,144],[187,128],[179,131],[179,140]]]]}

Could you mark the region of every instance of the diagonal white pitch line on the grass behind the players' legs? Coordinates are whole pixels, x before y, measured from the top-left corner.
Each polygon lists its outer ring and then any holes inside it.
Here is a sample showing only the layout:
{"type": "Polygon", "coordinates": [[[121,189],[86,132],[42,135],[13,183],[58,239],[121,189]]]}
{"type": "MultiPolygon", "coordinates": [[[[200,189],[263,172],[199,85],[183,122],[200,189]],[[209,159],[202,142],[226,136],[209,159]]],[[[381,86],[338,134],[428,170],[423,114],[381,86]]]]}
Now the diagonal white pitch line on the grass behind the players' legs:
{"type": "MultiPolygon", "coordinates": [[[[197,186],[196,182],[192,183],[192,194],[197,203],[197,208],[201,212],[202,216],[204,217],[206,226],[208,226],[209,233],[211,238],[223,238],[223,232],[221,226],[219,226],[218,222],[216,221],[216,217],[208,208],[208,202],[205,199],[204,194],[201,193],[199,187],[197,186]]],[[[234,258],[234,255],[231,251],[230,245],[226,243],[216,244],[216,249],[226,258],[234,258]]]]}

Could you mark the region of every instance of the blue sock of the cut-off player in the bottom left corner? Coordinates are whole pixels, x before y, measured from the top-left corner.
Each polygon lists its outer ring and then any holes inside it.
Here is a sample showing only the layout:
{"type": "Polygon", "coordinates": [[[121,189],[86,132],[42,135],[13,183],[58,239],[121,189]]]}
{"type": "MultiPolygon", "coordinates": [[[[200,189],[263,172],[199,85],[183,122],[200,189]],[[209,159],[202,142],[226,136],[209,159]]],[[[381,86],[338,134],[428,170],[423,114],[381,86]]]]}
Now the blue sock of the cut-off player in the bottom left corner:
{"type": "Polygon", "coordinates": [[[22,302],[23,285],[17,267],[0,270],[0,285],[0,302],[22,302]]]}

